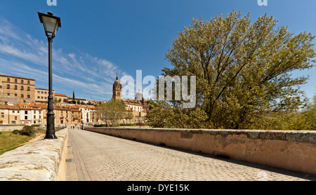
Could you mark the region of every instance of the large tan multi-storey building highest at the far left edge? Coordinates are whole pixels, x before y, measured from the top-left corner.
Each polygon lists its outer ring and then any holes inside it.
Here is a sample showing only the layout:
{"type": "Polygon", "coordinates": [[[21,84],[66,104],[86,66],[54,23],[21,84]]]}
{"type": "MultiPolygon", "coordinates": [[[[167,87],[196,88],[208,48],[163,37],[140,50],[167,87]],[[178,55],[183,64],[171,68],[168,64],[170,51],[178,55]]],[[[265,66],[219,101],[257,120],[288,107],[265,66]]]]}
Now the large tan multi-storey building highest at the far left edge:
{"type": "Polygon", "coordinates": [[[2,104],[34,103],[35,80],[0,74],[2,104]]]}

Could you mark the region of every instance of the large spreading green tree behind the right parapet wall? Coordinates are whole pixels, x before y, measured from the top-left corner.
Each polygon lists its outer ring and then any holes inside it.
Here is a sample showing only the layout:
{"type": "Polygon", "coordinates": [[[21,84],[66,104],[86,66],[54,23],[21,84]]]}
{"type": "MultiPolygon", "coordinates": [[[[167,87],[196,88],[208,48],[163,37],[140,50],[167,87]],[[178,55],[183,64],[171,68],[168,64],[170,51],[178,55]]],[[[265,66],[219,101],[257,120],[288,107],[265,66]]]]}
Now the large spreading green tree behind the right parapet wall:
{"type": "Polygon", "coordinates": [[[162,74],[197,76],[197,107],[212,128],[244,128],[254,114],[293,112],[307,101],[300,87],[308,77],[291,72],[314,66],[315,36],[276,26],[267,14],[251,24],[249,14],[236,11],[193,18],[172,41],[166,54],[172,68],[162,74]]]}

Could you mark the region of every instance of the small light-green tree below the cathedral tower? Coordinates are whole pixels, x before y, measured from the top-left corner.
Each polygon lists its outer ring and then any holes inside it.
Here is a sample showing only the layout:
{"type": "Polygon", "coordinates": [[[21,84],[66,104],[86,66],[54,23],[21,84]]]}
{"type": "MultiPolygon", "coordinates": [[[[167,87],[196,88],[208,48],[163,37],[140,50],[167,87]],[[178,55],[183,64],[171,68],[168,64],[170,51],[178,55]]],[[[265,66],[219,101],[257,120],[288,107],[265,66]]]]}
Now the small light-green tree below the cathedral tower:
{"type": "Polygon", "coordinates": [[[119,120],[124,118],[125,105],[121,100],[112,99],[108,102],[102,103],[98,107],[98,115],[103,121],[111,126],[119,126],[119,120]]]}

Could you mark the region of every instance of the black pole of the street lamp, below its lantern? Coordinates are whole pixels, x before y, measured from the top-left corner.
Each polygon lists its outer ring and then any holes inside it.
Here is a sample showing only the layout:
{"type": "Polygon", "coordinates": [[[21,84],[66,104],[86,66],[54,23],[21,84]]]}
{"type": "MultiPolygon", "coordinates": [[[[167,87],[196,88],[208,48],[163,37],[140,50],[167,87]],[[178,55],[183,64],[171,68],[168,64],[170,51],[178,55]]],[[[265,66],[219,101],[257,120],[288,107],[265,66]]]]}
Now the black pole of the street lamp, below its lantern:
{"type": "Polygon", "coordinates": [[[53,73],[52,73],[52,43],[53,37],[48,36],[48,112],[45,139],[57,139],[55,135],[55,114],[53,112],[53,73]]]}

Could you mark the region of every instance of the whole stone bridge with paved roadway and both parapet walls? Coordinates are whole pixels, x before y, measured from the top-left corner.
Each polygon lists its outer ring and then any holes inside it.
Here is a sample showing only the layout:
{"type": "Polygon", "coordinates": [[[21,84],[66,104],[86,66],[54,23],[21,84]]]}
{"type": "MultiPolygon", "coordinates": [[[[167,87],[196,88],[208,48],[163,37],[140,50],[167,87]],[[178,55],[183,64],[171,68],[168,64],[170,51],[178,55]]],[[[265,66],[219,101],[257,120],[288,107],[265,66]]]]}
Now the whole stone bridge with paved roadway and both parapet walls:
{"type": "Polygon", "coordinates": [[[64,129],[0,156],[0,180],[316,180],[315,131],[64,129]]]}

